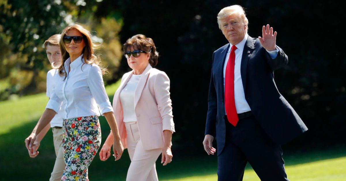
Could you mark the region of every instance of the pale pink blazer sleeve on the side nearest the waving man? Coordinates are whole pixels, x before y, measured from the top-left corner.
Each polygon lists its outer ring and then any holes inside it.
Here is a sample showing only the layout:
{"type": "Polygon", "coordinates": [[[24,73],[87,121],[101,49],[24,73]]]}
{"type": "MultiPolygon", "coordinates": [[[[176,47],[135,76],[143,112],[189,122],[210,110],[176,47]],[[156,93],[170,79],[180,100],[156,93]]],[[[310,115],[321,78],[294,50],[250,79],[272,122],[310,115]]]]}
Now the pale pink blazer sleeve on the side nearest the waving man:
{"type": "Polygon", "coordinates": [[[157,102],[157,109],[162,118],[162,129],[175,132],[172,113],[172,100],[170,98],[170,79],[166,73],[161,71],[157,74],[154,83],[154,92],[157,102]]]}

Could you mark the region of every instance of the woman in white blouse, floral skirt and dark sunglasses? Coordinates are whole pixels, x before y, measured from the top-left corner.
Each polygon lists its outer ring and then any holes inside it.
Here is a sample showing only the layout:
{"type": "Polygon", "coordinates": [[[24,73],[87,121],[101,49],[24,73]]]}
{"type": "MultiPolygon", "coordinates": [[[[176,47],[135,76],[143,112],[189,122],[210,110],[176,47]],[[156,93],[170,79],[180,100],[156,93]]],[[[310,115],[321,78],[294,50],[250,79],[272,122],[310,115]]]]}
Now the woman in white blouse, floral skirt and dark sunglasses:
{"type": "Polygon", "coordinates": [[[95,48],[90,32],[78,24],[62,31],[60,49],[62,63],[54,75],[54,88],[46,110],[30,136],[25,140],[31,147],[36,135],[52,120],[60,105],[64,106],[63,155],[65,170],[62,180],[89,180],[88,167],[101,144],[98,117],[106,117],[112,130],[113,152],[120,159],[124,150],[117,123],[104,89],[100,60],[93,54],[95,48]]]}

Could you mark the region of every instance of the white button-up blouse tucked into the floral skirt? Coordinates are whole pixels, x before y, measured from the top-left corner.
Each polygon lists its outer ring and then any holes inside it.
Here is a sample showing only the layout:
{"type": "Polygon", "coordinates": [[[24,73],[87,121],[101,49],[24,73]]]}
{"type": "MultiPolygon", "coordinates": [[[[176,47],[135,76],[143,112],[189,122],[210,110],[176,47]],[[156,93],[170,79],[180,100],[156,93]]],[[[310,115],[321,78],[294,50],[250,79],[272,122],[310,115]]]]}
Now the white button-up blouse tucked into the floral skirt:
{"type": "Polygon", "coordinates": [[[65,76],[54,75],[54,88],[46,108],[58,112],[63,102],[64,119],[103,115],[113,112],[106,90],[104,89],[102,73],[96,64],[84,64],[83,54],[70,64],[70,58],[65,61],[65,76]],[[83,65],[83,66],[82,66],[83,65]]]}

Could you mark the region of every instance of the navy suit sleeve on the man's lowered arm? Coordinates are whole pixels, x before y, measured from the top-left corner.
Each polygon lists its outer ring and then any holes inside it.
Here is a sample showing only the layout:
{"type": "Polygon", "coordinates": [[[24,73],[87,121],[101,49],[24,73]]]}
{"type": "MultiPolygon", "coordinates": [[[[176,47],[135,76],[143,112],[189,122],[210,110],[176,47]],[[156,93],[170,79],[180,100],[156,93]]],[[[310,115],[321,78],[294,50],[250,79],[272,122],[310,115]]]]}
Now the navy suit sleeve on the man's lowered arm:
{"type": "MultiPolygon", "coordinates": [[[[213,61],[214,63],[214,54],[213,53],[213,61]]],[[[206,121],[206,131],[204,134],[210,134],[213,137],[216,135],[216,114],[217,114],[217,97],[216,90],[213,80],[213,72],[211,67],[211,76],[210,76],[210,84],[209,84],[209,94],[208,94],[208,112],[207,112],[207,121],[206,121]]]]}

